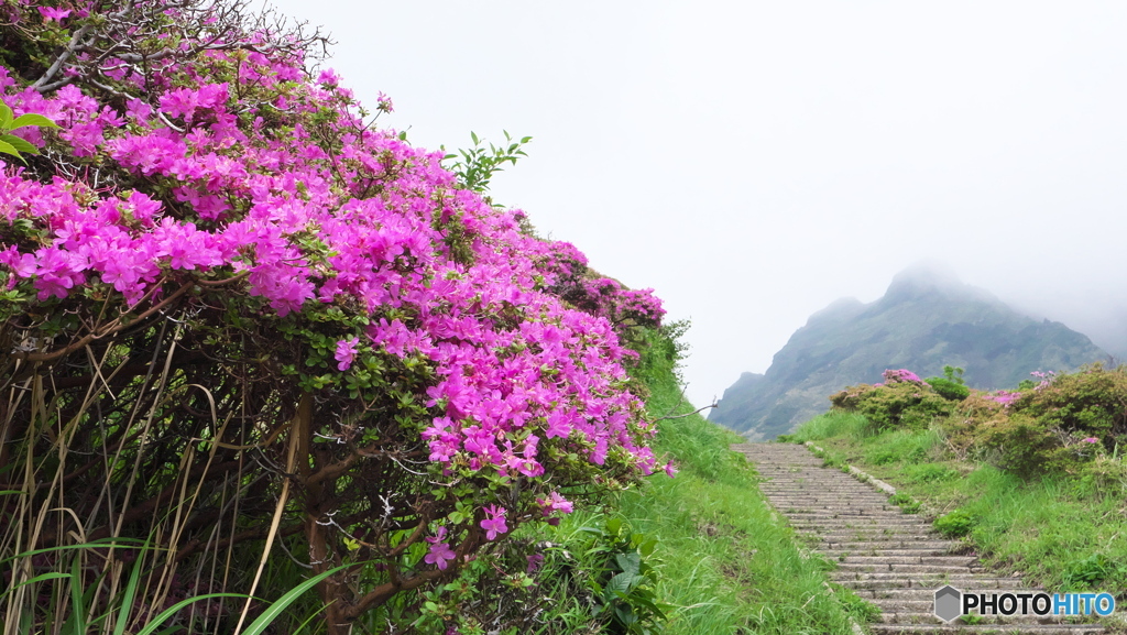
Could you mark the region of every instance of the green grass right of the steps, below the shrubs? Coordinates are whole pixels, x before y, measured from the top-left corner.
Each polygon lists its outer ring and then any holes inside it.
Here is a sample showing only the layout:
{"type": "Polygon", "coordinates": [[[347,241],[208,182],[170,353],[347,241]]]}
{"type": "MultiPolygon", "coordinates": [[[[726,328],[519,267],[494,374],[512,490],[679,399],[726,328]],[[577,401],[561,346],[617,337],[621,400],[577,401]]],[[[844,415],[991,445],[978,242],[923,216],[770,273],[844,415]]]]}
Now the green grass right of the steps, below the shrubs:
{"type": "Polygon", "coordinates": [[[1054,591],[1127,598],[1122,457],[1108,459],[1102,471],[1023,479],[960,460],[938,430],[880,432],[864,417],[844,413],[816,417],[791,439],[816,442],[834,460],[887,480],[941,517],[957,511],[946,524],[966,531],[975,550],[1003,573],[1020,572],[1054,591]]]}

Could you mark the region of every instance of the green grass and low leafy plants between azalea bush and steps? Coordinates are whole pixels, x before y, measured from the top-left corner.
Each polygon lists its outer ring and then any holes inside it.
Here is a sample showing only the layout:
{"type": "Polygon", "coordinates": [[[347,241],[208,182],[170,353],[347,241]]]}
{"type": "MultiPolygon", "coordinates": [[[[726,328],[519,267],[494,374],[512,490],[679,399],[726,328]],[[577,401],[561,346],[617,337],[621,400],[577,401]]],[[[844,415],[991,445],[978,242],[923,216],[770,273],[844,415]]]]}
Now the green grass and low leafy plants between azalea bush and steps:
{"type": "MultiPolygon", "coordinates": [[[[678,330],[647,332],[632,369],[648,388],[650,415],[662,418],[653,447],[678,471],[607,499],[597,513],[575,513],[553,530],[527,535],[544,557],[536,588],[545,603],[552,598],[540,618],[547,624],[533,632],[851,633],[842,596],[825,587],[826,564],[800,550],[758,491],[755,471],[728,449],[740,439],[701,415],[685,416],[692,407],[675,374],[678,330]],[[620,573],[616,557],[636,552],[645,554],[650,574],[618,608],[651,619],[629,627],[613,610],[592,610],[604,600],[591,583],[620,573]]],[[[860,601],[844,600],[863,615],[860,601]]]]}

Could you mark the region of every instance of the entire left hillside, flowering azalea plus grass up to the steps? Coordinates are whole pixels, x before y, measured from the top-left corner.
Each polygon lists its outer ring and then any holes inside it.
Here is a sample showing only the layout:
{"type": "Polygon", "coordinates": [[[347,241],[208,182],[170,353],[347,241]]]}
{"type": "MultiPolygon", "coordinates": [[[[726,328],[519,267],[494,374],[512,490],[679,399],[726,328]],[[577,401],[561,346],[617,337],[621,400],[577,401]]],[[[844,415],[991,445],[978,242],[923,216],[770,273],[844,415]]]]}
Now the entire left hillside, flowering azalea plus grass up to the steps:
{"type": "Polygon", "coordinates": [[[527,138],[242,0],[0,14],[5,633],[848,630],[660,301],[486,195],[527,138]]]}

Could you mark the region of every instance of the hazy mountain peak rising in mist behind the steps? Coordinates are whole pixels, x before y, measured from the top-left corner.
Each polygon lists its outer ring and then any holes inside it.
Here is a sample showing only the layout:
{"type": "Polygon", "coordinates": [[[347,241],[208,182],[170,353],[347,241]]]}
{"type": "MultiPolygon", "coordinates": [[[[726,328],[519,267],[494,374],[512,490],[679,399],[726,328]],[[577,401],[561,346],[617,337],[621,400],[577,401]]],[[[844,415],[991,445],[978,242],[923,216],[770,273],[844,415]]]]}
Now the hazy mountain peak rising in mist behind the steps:
{"type": "Polygon", "coordinates": [[[987,291],[931,266],[908,268],[871,303],[845,298],[814,314],[766,373],[745,372],[709,421],[771,439],[829,407],[829,395],[881,381],[886,369],[941,376],[966,369],[967,385],[1014,388],[1035,370],[1074,370],[1107,359],[1085,336],[1035,320],[987,291]]]}

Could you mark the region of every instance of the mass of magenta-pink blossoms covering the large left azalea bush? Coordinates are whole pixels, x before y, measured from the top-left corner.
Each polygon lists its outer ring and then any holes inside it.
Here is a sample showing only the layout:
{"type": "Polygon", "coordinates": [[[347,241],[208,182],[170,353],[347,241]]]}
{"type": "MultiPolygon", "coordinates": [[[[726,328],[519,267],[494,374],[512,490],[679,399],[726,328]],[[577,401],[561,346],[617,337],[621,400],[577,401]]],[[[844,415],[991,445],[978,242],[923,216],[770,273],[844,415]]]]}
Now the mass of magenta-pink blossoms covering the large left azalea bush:
{"type": "MultiPolygon", "coordinates": [[[[134,9],[188,15],[158,0],[130,7],[41,8],[32,24],[96,33],[134,9]]],[[[26,7],[8,11],[30,20],[26,7]]],[[[19,130],[53,159],[0,174],[0,290],[11,300],[0,326],[17,341],[63,342],[12,354],[57,359],[174,309],[197,316],[186,324],[201,333],[257,321],[256,335],[296,337],[304,364],[261,359],[308,393],[356,395],[355,422],[325,417],[318,431],[354,453],[340,465],[385,457],[388,439],[357,431],[392,421],[396,442],[425,448],[426,474],[472,488],[477,527],[428,485],[412,503],[432,528],[421,559],[438,570],[478,529],[495,540],[508,523],[571,511],[558,491],[569,479],[655,470],[653,426],[625,388],[632,352],[616,333],[659,323],[651,291],[592,280],[574,246],[522,231],[523,212],[460,187],[441,152],[364,121],[335,73],[313,79],[302,52],[272,48],[267,33],[241,37],[188,37],[147,64],[109,46],[38,83],[21,79],[35,71],[0,65],[0,99],[60,126],[19,130]],[[23,320],[26,307],[80,319],[37,337],[47,327],[23,320]],[[402,379],[411,369],[427,378],[414,393],[402,379]],[[364,414],[384,403],[378,386],[397,391],[402,413],[364,414]]],[[[391,100],[381,96],[378,111],[391,100]]]]}

